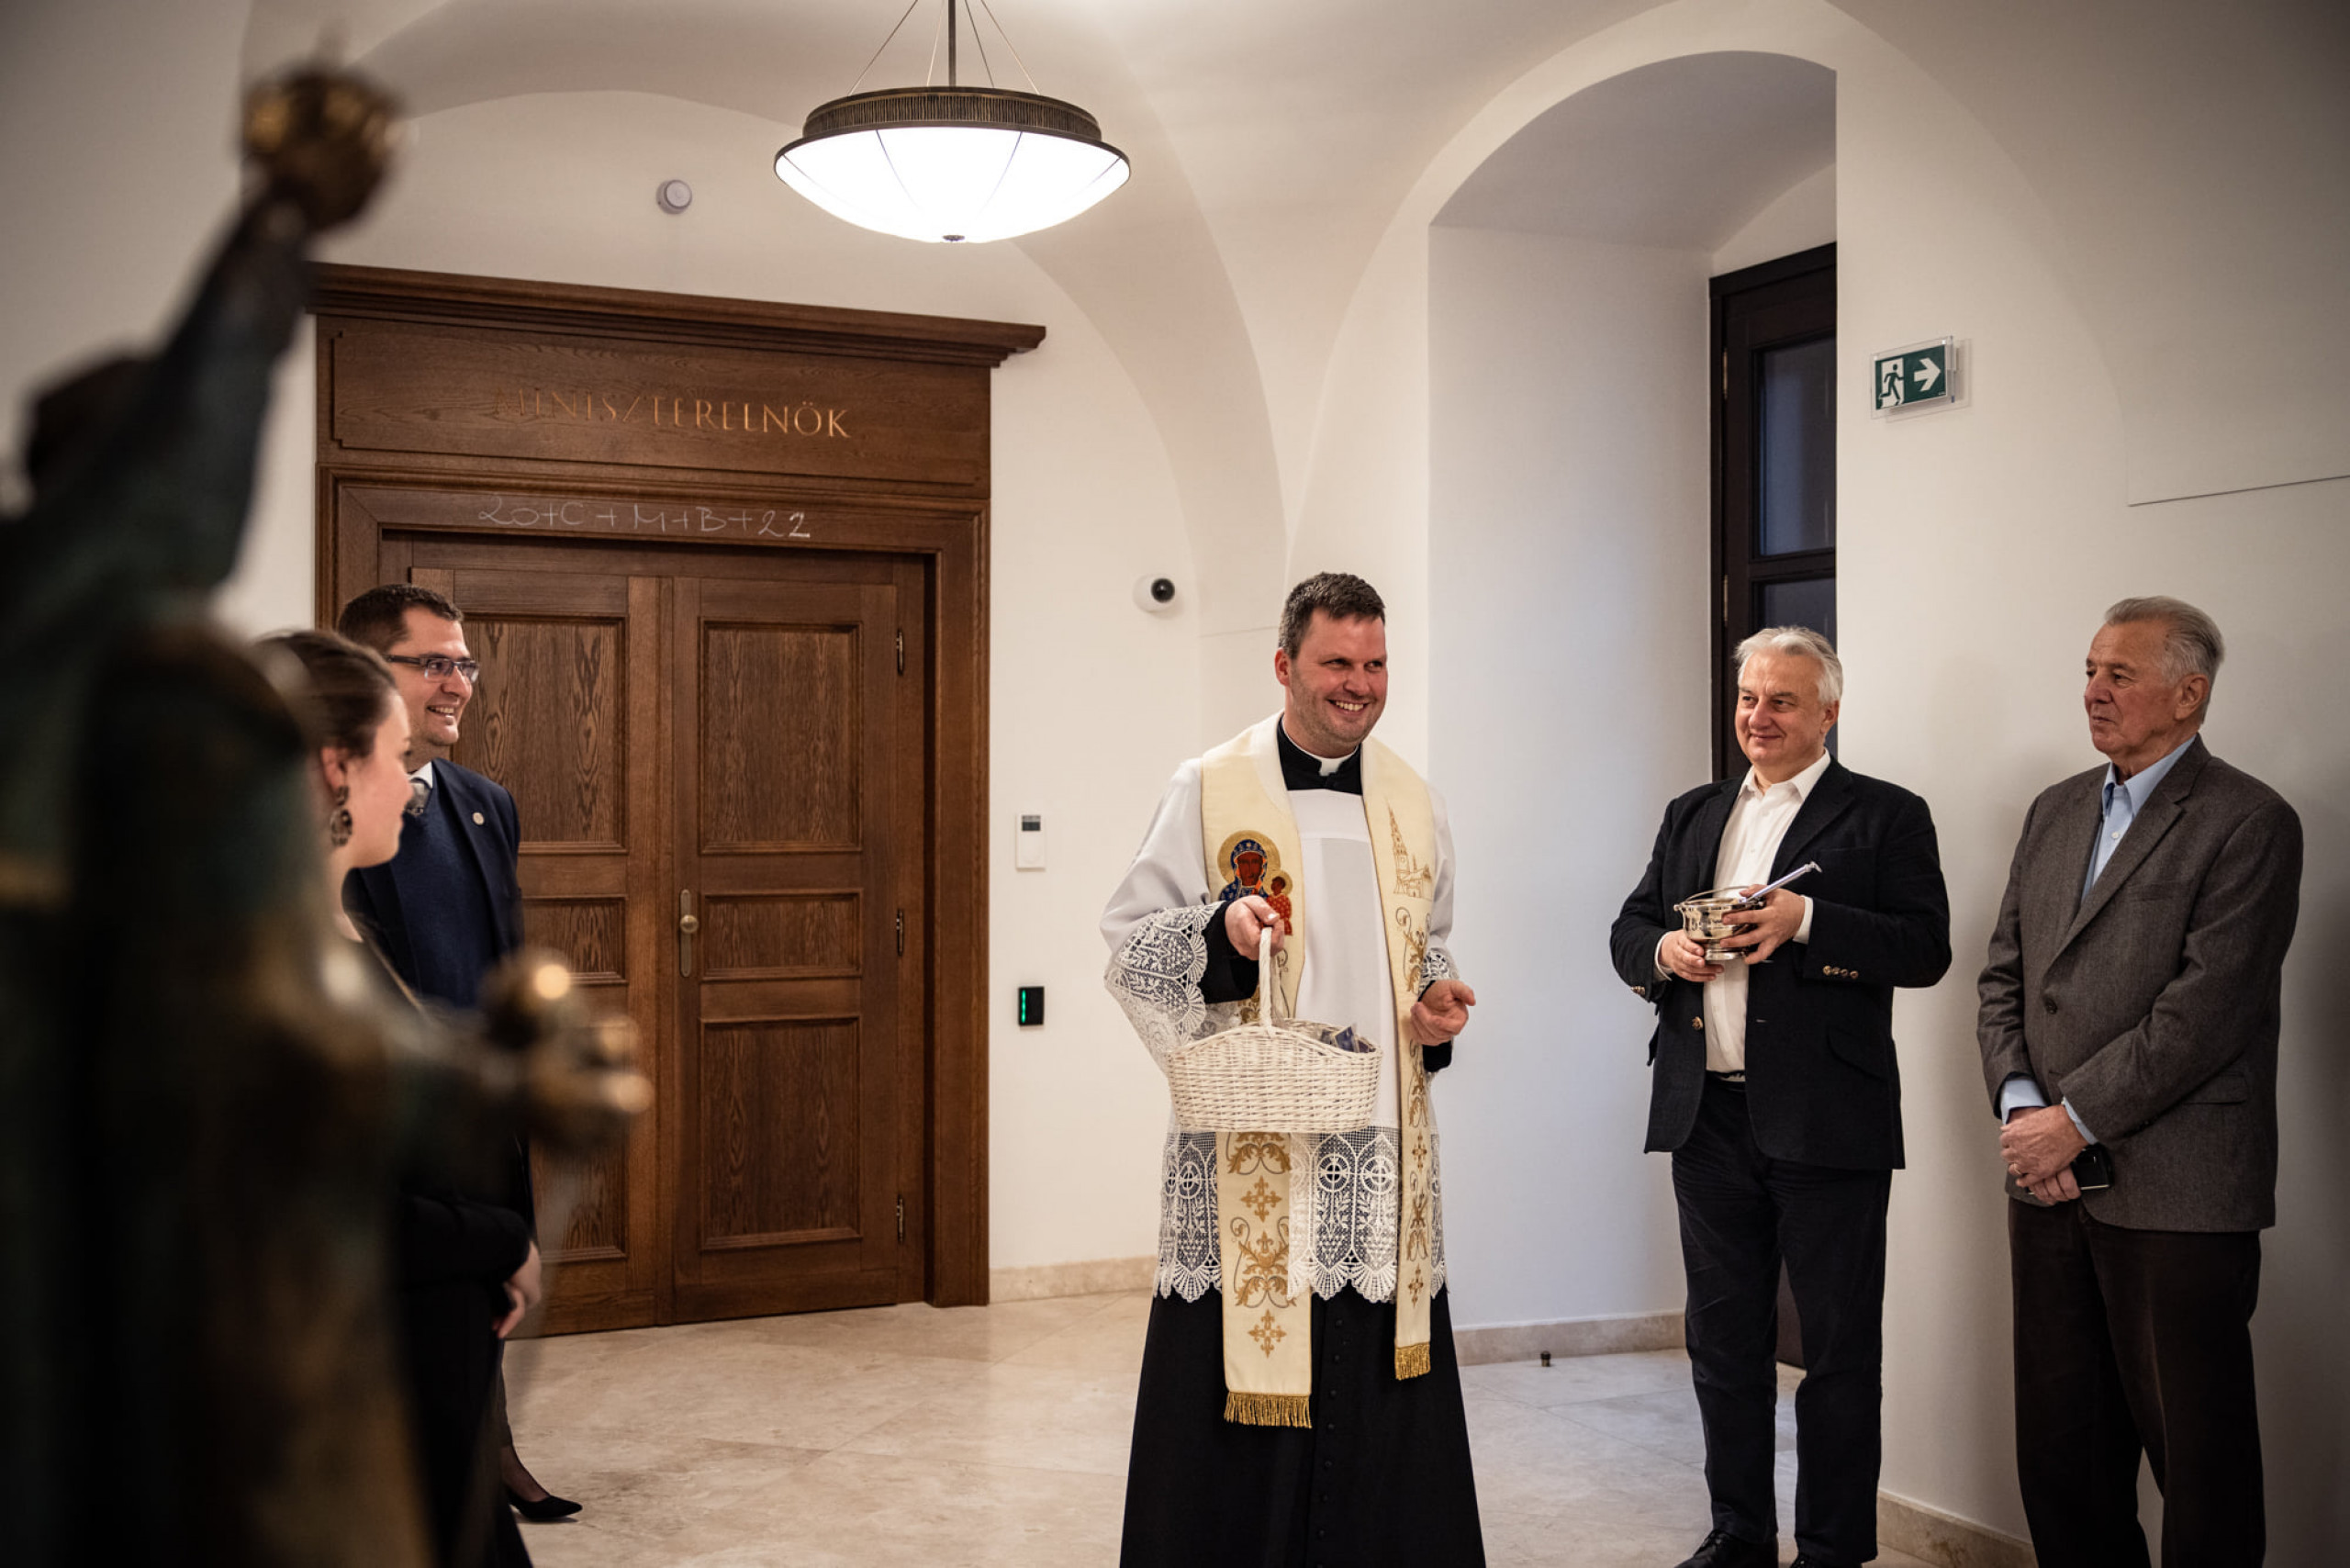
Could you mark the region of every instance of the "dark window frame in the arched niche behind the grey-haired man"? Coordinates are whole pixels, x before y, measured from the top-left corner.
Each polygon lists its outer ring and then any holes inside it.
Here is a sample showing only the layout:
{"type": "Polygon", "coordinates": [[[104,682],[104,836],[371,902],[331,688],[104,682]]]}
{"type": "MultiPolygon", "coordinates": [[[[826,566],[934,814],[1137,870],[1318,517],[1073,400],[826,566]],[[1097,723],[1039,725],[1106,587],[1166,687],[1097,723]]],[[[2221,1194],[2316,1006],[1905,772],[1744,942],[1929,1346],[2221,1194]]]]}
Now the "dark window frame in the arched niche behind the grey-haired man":
{"type": "Polygon", "coordinates": [[[1760,628],[1767,583],[1835,578],[1835,548],[1762,557],[1755,512],[1758,364],[1765,350],[1835,336],[1835,244],[1821,244],[1708,280],[1713,395],[1713,557],[1706,578],[1713,625],[1713,776],[1744,766],[1732,717],[1737,682],[1730,651],[1760,628]]]}

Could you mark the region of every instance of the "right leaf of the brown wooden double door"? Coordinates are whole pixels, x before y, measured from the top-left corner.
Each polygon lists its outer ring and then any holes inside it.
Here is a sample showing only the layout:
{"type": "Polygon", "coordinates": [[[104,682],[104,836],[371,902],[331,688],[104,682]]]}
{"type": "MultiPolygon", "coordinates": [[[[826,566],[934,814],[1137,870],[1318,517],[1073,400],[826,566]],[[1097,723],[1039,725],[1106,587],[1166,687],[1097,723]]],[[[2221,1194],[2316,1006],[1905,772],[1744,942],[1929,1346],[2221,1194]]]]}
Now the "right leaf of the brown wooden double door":
{"type": "Polygon", "coordinates": [[[677,1307],[898,1300],[898,588],[674,592],[677,1307]]]}

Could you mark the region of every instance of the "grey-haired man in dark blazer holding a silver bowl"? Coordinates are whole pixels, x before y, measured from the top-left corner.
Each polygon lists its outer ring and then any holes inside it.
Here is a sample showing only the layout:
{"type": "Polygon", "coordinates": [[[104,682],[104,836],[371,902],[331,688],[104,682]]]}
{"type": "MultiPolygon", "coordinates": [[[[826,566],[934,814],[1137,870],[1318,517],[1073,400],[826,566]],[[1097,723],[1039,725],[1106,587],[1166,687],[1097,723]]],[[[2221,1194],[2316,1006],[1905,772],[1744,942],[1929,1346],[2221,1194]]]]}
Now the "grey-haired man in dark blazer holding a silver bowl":
{"type": "Polygon", "coordinates": [[[1739,644],[1744,776],[1664,811],[1610,933],[1657,1009],[1647,1147],[1673,1154],[1685,1333],[1713,1530],[1683,1568],[1777,1568],[1772,1497],[1779,1265],[1802,1324],[1795,1563],[1878,1554],[1885,1208],[1901,1166],[1894,987],[1950,966],[1934,818],[1828,755],[1845,686],[1826,637],[1739,644]],[[1819,863],[1739,917],[1748,959],[1708,964],[1673,905],[1819,863]]]}

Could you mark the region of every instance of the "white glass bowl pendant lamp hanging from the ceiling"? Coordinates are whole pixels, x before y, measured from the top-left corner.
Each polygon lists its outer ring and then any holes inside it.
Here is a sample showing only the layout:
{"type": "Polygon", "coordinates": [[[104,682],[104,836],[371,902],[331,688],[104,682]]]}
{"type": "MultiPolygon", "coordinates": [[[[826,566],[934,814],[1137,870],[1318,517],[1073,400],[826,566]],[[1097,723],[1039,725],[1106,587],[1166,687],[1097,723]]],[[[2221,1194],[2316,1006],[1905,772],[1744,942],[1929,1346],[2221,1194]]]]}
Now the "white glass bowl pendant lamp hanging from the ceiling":
{"type": "MultiPolygon", "coordinates": [[[[783,183],[860,228],[931,242],[1010,240],[1053,228],[1123,186],[1126,153],[1102,141],[1093,115],[1076,103],[994,85],[975,19],[971,40],[980,45],[989,85],[961,85],[956,9],[968,16],[971,2],[945,0],[945,87],[926,78],[921,87],[851,92],[820,103],[799,141],[776,153],[783,183]]],[[[898,38],[914,5],[921,0],[907,5],[881,49],[898,38]]],[[[987,0],[978,5],[994,21],[987,0]]],[[[1001,21],[996,35],[1010,47],[1001,21]]],[[[1013,59],[1020,59],[1018,49],[1013,59]]],[[[935,71],[935,40],[931,61],[935,71]]],[[[1020,73],[1027,75],[1025,63],[1020,73]]]]}

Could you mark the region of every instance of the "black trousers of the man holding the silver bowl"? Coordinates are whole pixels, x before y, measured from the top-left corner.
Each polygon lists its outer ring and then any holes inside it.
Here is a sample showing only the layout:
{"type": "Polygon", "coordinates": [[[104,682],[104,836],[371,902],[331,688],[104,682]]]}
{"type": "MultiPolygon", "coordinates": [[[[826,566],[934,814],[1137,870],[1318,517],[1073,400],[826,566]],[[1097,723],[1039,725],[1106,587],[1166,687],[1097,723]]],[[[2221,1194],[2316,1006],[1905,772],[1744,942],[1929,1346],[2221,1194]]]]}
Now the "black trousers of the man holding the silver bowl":
{"type": "Polygon", "coordinates": [[[1673,1150],[1673,1197],[1716,1530],[1751,1542],[1779,1535],[1774,1347],[1786,1260],[1805,1359],[1795,1389],[1795,1544],[1824,1563],[1878,1554],[1889,1194],[1892,1171],[1762,1154],[1744,1086],[1706,1079],[1697,1124],[1673,1150]]]}

